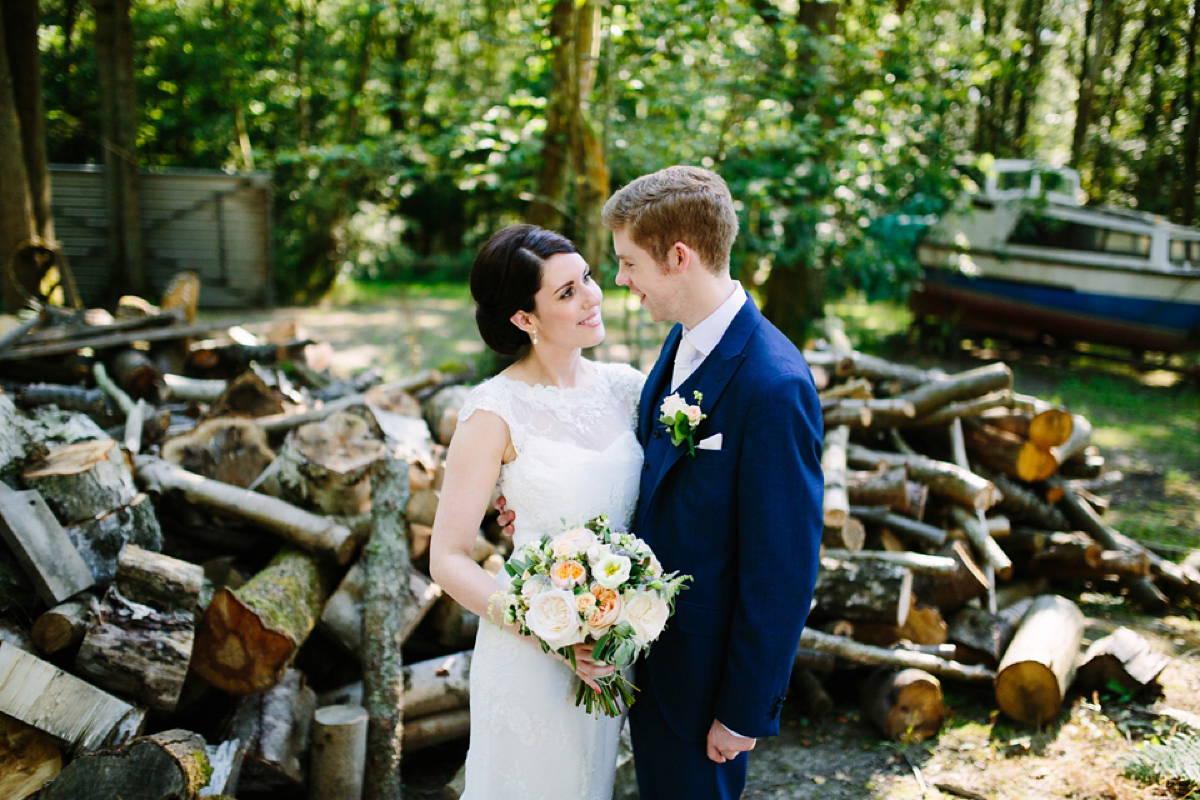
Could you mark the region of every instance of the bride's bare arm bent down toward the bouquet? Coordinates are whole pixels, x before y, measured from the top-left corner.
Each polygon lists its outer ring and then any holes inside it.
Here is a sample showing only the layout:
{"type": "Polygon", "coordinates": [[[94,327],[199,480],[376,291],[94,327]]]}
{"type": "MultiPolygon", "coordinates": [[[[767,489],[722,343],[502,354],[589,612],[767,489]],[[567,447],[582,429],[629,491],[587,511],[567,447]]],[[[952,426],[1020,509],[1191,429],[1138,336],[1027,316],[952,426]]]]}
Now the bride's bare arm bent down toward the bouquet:
{"type": "Polygon", "coordinates": [[[458,425],[446,451],[442,485],[448,501],[438,504],[430,542],[432,578],[464,608],[497,625],[502,606],[491,597],[499,587],[470,558],[470,551],[511,446],[508,425],[491,411],[478,410],[458,425]]]}

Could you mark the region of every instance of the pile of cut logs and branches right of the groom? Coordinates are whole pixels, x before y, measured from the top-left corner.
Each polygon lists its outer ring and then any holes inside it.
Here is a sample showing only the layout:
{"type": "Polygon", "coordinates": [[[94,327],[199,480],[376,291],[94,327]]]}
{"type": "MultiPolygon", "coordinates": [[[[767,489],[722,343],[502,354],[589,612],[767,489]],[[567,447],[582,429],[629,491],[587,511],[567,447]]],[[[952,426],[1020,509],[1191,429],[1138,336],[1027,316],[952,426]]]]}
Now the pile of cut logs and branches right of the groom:
{"type": "Polygon", "coordinates": [[[940,679],[989,681],[1010,718],[1040,726],[1072,688],[1153,690],[1168,661],[1132,631],[1086,652],[1067,597],[1091,583],[1147,613],[1200,602],[1200,573],[1108,525],[1080,414],[1013,390],[1001,362],[958,374],[853,349],[836,320],[805,353],[826,422],[824,534],[796,660],[799,702],[823,675],[874,666],[864,717],[888,736],[936,734],[940,679]]]}

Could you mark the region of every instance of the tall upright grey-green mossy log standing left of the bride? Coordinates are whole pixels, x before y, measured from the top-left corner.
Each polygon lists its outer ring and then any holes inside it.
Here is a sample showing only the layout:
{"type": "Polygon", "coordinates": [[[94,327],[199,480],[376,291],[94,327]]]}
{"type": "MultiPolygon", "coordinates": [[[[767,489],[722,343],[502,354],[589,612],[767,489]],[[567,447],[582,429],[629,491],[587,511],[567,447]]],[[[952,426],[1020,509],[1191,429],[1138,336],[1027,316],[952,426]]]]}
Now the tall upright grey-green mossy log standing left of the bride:
{"type": "MultiPolygon", "coordinates": [[[[407,618],[410,565],[404,521],[408,464],[378,462],[372,474],[374,531],[362,552],[362,687],[367,727],[365,800],[400,800],[400,759],[404,720],[401,655],[407,618]]],[[[404,736],[407,745],[407,736],[404,736]]]]}

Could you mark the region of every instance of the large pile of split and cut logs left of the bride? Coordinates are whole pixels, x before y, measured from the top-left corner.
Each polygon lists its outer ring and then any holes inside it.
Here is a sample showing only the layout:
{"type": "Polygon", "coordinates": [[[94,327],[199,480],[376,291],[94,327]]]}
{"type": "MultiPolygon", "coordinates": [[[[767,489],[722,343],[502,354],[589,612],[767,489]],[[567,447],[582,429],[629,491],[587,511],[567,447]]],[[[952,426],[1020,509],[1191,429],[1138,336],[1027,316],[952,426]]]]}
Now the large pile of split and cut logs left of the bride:
{"type": "Polygon", "coordinates": [[[398,798],[469,726],[427,577],[467,389],[170,303],[0,336],[0,796],[398,798]]]}

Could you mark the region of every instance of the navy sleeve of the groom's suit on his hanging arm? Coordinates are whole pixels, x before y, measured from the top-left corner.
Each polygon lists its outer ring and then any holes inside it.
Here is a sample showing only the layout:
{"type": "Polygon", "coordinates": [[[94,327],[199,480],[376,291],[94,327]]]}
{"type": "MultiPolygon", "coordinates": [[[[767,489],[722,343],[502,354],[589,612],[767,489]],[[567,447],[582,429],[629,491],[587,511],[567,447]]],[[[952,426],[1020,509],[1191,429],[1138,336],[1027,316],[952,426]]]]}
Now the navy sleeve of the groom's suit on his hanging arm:
{"type": "Polygon", "coordinates": [[[808,371],[776,374],[751,403],[737,475],[738,590],[716,718],[779,733],[821,546],[821,407],[808,371]]]}

